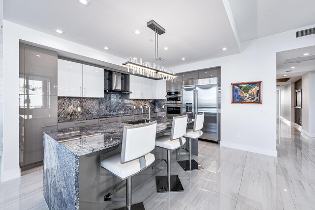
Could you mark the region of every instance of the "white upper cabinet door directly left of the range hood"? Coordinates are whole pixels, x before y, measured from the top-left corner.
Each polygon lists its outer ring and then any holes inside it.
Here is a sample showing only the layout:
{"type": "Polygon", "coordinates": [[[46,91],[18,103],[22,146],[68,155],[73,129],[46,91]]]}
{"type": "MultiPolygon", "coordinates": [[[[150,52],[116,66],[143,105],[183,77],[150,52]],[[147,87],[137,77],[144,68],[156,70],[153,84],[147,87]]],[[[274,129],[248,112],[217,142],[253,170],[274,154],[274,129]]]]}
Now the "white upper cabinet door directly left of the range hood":
{"type": "Polygon", "coordinates": [[[104,70],[83,64],[83,97],[104,97],[104,70]]]}

